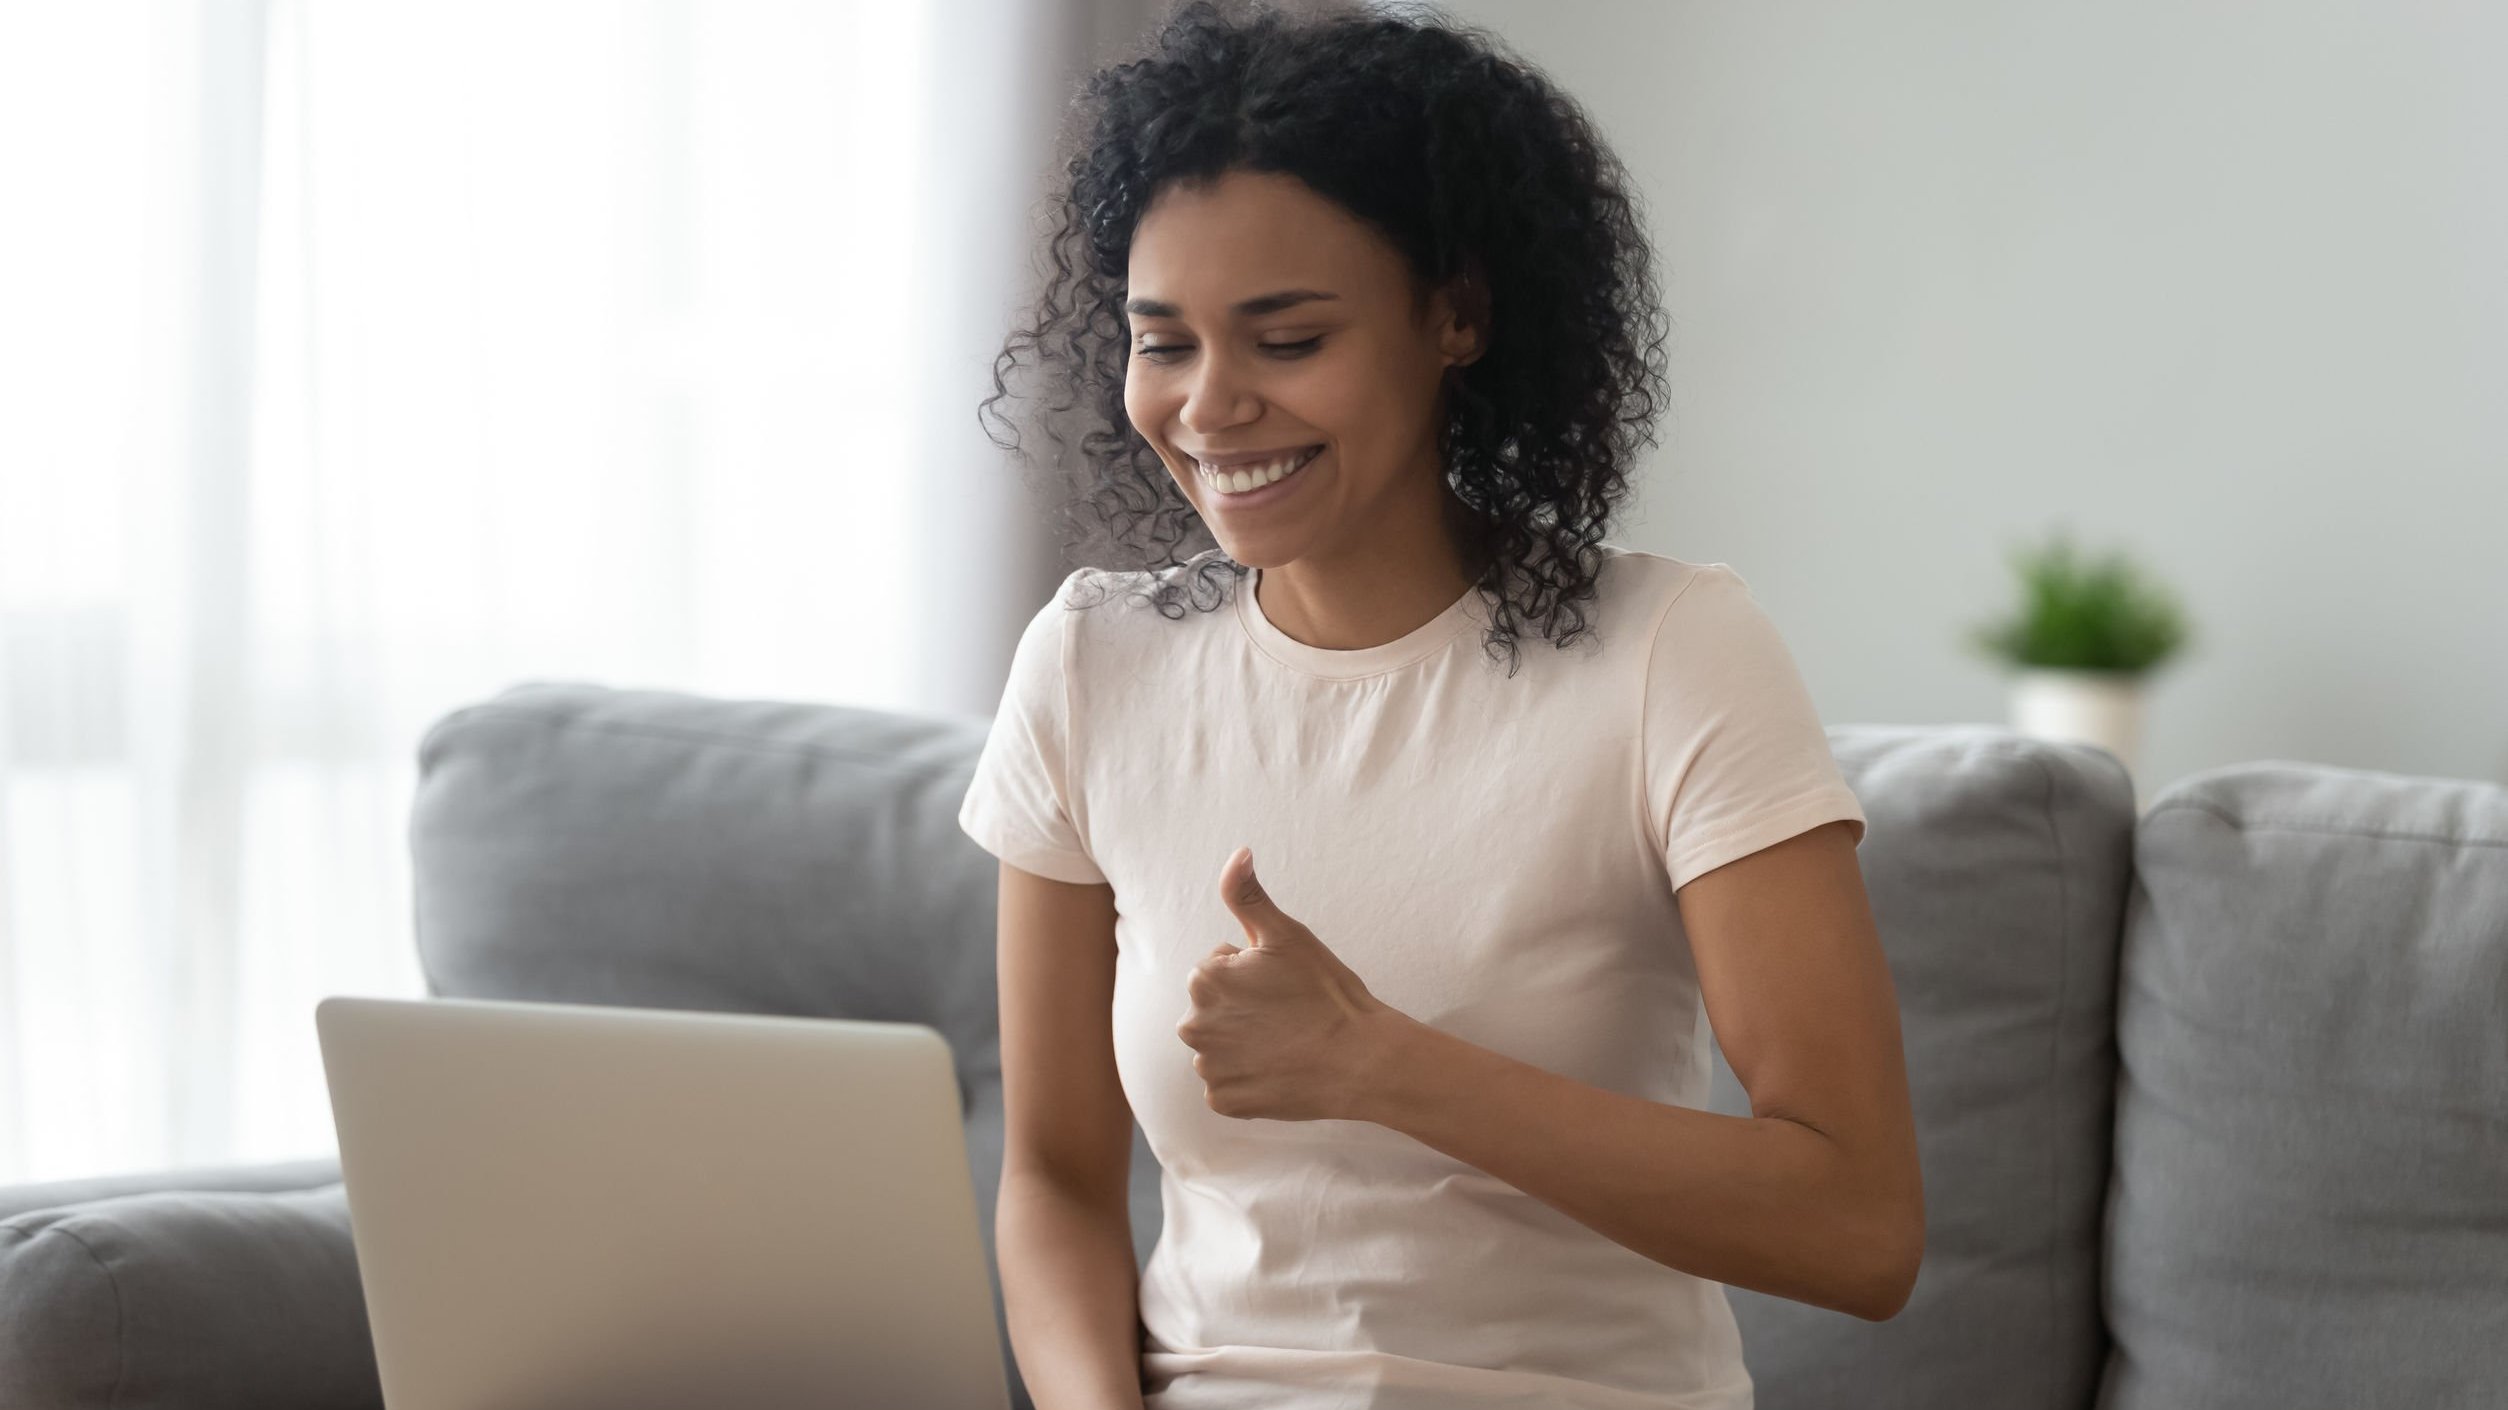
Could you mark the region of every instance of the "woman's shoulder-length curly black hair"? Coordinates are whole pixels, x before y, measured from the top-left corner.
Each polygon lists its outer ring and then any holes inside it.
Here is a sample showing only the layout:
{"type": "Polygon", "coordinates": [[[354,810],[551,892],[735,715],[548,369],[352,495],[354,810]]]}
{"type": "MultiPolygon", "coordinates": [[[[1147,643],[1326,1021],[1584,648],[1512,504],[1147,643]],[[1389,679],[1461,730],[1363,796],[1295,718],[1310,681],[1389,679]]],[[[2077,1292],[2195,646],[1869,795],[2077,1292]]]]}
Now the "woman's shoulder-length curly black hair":
{"type": "MultiPolygon", "coordinates": [[[[1033,419],[1056,447],[1066,557],[1141,572],[1171,620],[1244,577],[1124,411],[1124,299],[1134,228],[1169,183],[1289,173],[1402,251],[1417,306],[1455,276],[1480,284],[1487,351],[1447,369],[1437,427],[1450,529],[1490,602],[1485,650],[1512,677],[1517,617],[1557,647],[1585,630],[1595,544],[1668,401],[1668,329],[1628,173],[1550,78],[1427,5],[1299,18],[1191,0],[1086,83],[1056,161],[1051,268],[978,421],[1033,354],[1063,394],[1033,419]],[[1066,467],[1056,416],[1076,409],[1066,467]]],[[[1023,452],[1016,427],[996,444],[1023,452]]]]}

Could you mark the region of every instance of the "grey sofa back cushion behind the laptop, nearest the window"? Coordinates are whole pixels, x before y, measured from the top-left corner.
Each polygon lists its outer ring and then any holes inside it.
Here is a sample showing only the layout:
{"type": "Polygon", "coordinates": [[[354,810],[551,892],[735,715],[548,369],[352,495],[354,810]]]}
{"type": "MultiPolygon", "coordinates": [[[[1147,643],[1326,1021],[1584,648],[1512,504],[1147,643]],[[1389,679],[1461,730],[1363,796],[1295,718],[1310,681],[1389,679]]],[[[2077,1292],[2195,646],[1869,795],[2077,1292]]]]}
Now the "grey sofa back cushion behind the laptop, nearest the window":
{"type": "Polygon", "coordinates": [[[993,873],[951,838],[981,730],[517,685],[419,745],[429,991],[930,1024],[998,1069],[993,873]]]}

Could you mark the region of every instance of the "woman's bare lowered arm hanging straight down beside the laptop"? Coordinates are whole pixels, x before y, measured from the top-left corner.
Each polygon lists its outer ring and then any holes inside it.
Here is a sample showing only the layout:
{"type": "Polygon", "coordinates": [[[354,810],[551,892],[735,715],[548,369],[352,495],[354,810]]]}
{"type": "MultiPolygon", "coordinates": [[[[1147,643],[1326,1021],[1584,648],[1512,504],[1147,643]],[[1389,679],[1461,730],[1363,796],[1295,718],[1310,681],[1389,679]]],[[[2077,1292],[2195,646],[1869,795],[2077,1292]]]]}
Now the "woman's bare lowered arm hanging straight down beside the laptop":
{"type": "Polygon", "coordinates": [[[993,1257],[1038,1410],[1141,1407],[1131,1104],[1114,1066],[1114,888],[1001,863],[993,1257]]]}

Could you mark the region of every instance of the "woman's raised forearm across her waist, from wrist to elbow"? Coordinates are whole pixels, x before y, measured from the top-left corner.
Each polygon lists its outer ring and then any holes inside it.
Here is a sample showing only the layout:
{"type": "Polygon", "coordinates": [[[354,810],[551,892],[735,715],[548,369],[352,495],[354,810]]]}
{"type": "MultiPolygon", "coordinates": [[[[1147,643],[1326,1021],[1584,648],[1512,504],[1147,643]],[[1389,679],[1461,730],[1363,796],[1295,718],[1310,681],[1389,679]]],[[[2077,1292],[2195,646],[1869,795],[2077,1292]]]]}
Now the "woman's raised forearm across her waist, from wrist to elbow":
{"type": "Polygon", "coordinates": [[[1778,1116],[1645,1101],[1387,1011],[1359,1119],[1532,1194],[1665,1267],[1889,1317],[1906,1249],[1838,1147],[1778,1116]]]}

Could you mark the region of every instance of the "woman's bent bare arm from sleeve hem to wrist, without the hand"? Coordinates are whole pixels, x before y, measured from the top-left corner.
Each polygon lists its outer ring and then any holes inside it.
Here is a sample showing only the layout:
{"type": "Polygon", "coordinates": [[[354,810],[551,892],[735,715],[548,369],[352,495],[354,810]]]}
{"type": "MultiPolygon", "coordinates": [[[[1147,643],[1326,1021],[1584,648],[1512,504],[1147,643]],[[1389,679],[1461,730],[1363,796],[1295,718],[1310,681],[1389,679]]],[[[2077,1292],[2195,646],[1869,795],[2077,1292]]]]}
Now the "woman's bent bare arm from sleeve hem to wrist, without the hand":
{"type": "Polygon", "coordinates": [[[1846,823],[1678,896],[1751,1116],[1588,1086],[1392,1014],[1362,1116],[1683,1272],[1886,1322],[1924,1262],[1899,1004],[1846,823]]]}

